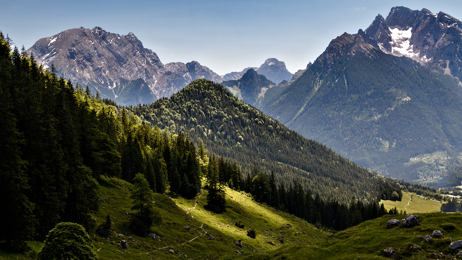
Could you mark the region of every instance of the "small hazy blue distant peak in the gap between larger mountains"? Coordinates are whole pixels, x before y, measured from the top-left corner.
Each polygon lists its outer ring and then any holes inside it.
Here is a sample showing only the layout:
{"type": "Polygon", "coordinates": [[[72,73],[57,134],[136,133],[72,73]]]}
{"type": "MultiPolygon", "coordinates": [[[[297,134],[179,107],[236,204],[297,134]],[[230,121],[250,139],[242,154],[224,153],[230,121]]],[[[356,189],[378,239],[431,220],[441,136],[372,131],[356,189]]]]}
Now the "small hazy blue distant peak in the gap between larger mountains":
{"type": "Polygon", "coordinates": [[[276,58],[269,58],[259,68],[249,67],[244,68],[241,72],[231,72],[225,74],[223,80],[239,80],[250,68],[254,69],[258,74],[266,76],[268,80],[273,81],[276,85],[283,80],[290,81],[293,76],[287,70],[285,62],[278,61],[276,58]]]}

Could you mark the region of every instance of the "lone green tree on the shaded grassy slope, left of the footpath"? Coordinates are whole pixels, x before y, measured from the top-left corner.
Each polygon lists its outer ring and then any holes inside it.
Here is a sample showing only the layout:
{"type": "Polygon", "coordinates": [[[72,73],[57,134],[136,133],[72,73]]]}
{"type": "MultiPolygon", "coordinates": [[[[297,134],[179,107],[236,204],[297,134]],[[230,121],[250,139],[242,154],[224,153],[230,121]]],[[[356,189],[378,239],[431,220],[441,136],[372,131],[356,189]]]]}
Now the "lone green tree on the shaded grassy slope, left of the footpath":
{"type": "Polygon", "coordinates": [[[133,185],[136,189],[130,196],[133,199],[132,210],[137,210],[132,225],[137,231],[146,231],[151,225],[162,223],[162,216],[152,206],[153,192],[149,187],[149,182],[141,173],[137,173],[133,178],[133,185]]]}

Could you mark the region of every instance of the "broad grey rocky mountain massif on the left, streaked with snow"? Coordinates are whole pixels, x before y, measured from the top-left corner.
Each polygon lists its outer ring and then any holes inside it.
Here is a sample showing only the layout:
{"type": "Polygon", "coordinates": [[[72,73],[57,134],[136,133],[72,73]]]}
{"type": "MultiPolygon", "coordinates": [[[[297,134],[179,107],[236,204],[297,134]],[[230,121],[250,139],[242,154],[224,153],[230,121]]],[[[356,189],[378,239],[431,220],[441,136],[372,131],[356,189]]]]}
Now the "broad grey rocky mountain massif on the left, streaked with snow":
{"type": "Polygon", "coordinates": [[[200,78],[222,81],[199,62],[164,65],[132,32],[119,35],[100,27],[74,28],[42,38],[27,53],[44,68],[54,64],[58,74],[88,85],[103,98],[116,99],[119,105],[151,103],[200,78]]]}

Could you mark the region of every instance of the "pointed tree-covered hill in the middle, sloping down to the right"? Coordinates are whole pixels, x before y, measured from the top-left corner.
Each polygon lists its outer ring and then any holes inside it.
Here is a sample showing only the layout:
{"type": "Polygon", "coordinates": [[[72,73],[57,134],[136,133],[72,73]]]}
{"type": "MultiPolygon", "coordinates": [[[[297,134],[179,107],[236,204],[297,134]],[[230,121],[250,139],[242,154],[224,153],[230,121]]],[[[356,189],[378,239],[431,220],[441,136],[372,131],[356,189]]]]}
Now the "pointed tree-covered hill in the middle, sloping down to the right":
{"type": "Polygon", "coordinates": [[[240,161],[244,175],[257,164],[264,172],[274,170],[278,183],[297,181],[322,198],[371,201],[381,197],[384,187],[396,188],[209,80],[195,80],[169,99],[127,109],[161,129],[189,132],[193,142],[202,140],[211,152],[240,161]]]}

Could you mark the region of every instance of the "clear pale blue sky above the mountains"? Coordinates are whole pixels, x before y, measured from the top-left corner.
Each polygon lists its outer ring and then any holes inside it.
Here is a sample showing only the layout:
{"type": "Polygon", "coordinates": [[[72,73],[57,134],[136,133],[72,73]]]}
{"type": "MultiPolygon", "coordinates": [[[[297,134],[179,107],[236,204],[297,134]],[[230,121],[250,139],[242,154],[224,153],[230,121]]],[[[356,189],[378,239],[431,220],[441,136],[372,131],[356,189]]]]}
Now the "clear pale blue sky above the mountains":
{"type": "Polygon", "coordinates": [[[427,8],[462,20],[461,0],[0,0],[0,30],[26,49],[61,31],[99,26],[133,32],[161,62],[198,61],[223,75],[267,58],[294,73],[343,32],[366,29],[393,6],[427,8]]]}

